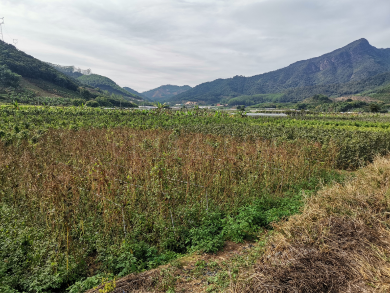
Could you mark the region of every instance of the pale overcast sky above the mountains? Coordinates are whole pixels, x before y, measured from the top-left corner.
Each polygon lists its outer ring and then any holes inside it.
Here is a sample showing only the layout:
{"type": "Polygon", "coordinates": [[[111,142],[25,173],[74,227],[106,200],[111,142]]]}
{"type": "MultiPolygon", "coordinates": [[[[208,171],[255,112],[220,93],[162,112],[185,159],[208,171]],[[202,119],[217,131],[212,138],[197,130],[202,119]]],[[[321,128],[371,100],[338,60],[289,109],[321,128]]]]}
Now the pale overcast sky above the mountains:
{"type": "Polygon", "coordinates": [[[252,76],[357,39],[390,48],[390,0],[0,0],[4,41],[138,92],[252,76]]]}

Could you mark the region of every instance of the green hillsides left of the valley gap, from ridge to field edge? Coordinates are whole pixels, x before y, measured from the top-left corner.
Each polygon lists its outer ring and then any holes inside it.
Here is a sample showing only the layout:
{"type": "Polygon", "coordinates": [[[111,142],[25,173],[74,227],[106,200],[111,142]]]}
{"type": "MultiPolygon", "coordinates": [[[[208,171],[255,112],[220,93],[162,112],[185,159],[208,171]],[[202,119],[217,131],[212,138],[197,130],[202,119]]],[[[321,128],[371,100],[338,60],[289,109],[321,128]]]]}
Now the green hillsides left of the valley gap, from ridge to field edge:
{"type": "Polygon", "coordinates": [[[129,100],[138,96],[121,89],[107,77],[94,75],[74,79],[0,41],[0,102],[17,100],[31,105],[78,105],[91,101],[91,105],[98,102],[98,106],[106,107],[137,106],[129,100]],[[94,86],[100,86],[100,89],[94,86]]]}

